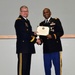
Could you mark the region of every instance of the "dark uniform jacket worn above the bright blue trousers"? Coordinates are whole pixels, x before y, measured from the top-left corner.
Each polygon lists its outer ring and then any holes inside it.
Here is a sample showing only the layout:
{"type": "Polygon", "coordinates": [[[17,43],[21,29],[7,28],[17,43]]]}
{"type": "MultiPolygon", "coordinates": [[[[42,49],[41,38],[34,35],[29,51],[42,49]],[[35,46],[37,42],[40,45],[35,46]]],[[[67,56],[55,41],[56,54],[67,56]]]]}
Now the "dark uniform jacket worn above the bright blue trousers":
{"type": "Polygon", "coordinates": [[[52,36],[51,39],[47,36],[40,36],[43,42],[43,52],[52,53],[62,51],[60,37],[64,34],[61,22],[58,18],[51,18],[48,23],[45,21],[40,23],[40,26],[49,27],[49,34],[52,36]]]}

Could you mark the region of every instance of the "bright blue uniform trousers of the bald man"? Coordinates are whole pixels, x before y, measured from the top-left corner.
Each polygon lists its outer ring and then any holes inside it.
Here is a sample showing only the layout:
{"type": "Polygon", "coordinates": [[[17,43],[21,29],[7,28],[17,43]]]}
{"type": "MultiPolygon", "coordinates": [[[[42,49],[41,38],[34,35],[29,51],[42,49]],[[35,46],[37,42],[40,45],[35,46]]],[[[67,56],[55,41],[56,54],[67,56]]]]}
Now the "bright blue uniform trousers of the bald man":
{"type": "Polygon", "coordinates": [[[60,52],[44,53],[45,75],[51,75],[52,62],[55,69],[55,75],[61,75],[60,52]]]}

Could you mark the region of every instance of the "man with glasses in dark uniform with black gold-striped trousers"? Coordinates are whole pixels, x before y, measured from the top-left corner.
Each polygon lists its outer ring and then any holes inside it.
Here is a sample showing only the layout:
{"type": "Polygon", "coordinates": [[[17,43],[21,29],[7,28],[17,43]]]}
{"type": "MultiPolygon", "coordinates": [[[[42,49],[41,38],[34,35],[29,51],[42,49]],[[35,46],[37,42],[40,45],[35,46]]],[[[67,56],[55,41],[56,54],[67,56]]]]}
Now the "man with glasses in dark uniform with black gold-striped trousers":
{"type": "Polygon", "coordinates": [[[36,38],[28,17],[28,7],[20,7],[20,15],[15,21],[17,36],[16,53],[18,56],[17,75],[30,75],[31,56],[35,53],[34,43],[36,38]]]}

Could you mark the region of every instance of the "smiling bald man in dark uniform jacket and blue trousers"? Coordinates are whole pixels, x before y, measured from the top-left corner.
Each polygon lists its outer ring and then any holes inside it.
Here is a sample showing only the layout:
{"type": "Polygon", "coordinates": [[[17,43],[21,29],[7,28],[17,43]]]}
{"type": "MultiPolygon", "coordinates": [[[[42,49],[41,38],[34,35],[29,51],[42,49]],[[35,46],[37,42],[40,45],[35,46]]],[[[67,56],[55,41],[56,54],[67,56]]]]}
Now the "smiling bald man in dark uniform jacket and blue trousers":
{"type": "MultiPolygon", "coordinates": [[[[64,34],[62,24],[58,18],[51,17],[51,11],[49,8],[43,10],[44,21],[40,23],[40,26],[49,27],[49,35],[40,36],[43,43],[43,57],[45,75],[51,75],[52,62],[55,68],[55,75],[61,75],[62,59],[61,59],[61,40],[60,37],[64,34]]],[[[38,42],[40,44],[40,42],[38,42]]]]}

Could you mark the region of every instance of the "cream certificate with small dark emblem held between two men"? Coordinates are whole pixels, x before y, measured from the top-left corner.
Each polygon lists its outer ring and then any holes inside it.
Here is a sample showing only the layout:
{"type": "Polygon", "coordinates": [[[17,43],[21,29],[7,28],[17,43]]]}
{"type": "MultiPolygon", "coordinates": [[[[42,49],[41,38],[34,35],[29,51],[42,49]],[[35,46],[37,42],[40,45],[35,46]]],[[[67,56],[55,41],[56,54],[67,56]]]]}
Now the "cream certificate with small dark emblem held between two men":
{"type": "Polygon", "coordinates": [[[49,34],[49,27],[47,26],[38,26],[37,35],[47,36],[49,34]]]}

